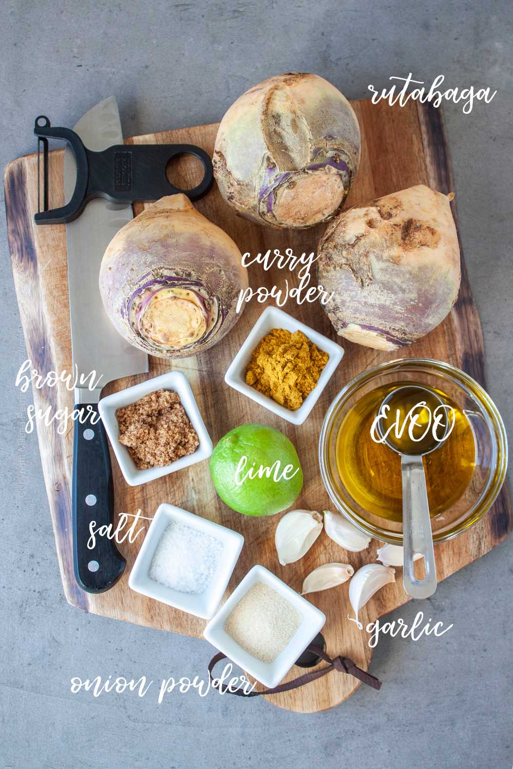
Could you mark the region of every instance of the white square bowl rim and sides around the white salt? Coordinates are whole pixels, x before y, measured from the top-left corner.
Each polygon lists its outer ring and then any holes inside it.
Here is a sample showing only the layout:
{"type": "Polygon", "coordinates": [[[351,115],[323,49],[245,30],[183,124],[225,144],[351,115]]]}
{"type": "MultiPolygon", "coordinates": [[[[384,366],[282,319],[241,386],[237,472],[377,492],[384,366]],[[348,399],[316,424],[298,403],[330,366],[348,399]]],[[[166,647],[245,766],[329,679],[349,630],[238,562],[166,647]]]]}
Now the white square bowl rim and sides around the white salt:
{"type": "Polygon", "coordinates": [[[187,611],[188,614],[195,614],[196,617],[210,619],[225,594],[226,586],[232,576],[243,544],[244,537],[238,531],[232,531],[232,529],[215,524],[206,518],[200,518],[194,513],[182,510],[182,508],[175,508],[174,504],[163,502],[157,508],[138,556],[135,558],[128,578],[128,586],[136,593],[147,595],[148,598],[155,598],[155,601],[162,601],[163,604],[187,611]],[[160,584],[148,576],[160,538],[168,525],[173,522],[182,523],[185,526],[195,528],[197,531],[210,534],[211,537],[223,544],[218,568],[212,575],[208,588],[203,593],[181,593],[178,590],[167,588],[164,584],[160,584]]]}

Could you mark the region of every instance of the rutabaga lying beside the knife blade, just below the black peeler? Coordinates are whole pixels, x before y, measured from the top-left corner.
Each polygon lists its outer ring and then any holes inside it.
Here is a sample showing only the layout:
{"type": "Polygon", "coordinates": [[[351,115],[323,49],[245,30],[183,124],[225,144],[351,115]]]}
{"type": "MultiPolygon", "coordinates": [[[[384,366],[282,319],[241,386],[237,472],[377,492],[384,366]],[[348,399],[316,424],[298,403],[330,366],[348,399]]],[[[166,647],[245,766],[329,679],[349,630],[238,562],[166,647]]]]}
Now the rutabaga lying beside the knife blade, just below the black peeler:
{"type": "Polygon", "coordinates": [[[196,355],[235,324],[248,271],[232,238],[185,195],[152,205],[112,238],[100,291],[112,324],[159,358],[196,355]]]}

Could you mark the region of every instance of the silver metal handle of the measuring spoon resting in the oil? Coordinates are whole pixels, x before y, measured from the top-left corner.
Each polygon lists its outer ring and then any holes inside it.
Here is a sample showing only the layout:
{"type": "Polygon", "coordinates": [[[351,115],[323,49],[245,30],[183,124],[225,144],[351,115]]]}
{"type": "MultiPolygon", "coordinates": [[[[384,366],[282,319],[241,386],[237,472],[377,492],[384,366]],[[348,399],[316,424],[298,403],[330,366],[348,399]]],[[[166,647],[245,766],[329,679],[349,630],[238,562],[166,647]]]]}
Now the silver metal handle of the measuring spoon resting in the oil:
{"type": "Polygon", "coordinates": [[[435,551],[429,518],[428,491],[424,465],[420,456],[401,456],[402,470],[402,531],[404,565],[402,581],[412,598],[429,598],[436,590],[435,551]],[[425,577],[415,578],[413,557],[424,557],[425,577]]]}

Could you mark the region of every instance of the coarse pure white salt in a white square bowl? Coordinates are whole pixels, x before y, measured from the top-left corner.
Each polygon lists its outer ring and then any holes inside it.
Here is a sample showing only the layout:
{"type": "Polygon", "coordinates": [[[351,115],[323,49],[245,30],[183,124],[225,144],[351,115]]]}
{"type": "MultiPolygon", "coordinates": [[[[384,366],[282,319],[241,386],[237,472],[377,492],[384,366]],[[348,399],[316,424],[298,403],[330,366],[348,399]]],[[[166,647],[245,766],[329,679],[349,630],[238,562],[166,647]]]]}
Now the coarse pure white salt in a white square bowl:
{"type": "Polygon", "coordinates": [[[222,551],[222,542],[210,534],[173,521],[158,542],[148,576],[180,593],[204,593],[222,551]]]}

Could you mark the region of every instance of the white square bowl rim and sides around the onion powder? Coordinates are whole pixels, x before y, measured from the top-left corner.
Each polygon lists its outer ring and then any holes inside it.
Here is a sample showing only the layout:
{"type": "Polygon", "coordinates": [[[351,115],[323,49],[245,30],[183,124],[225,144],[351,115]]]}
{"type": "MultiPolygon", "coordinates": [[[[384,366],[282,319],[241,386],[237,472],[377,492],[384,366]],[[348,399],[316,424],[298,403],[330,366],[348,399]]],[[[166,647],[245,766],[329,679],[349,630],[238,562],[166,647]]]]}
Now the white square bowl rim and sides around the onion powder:
{"type": "Polygon", "coordinates": [[[288,673],[292,665],[301,656],[305,648],[324,626],[325,615],[313,606],[305,598],[296,593],[295,590],[288,587],[288,584],[272,574],[263,566],[254,566],[248,571],[245,578],[233,591],[228,601],[222,605],[215,617],[208,623],[204,637],[207,641],[226,654],[232,662],[242,667],[249,675],[260,681],[268,687],[275,687],[281,679],[288,673]],[[225,622],[228,616],[235,609],[235,606],[244,598],[245,594],[253,587],[256,582],[263,582],[295,606],[301,614],[301,624],[286,645],[285,649],[278,654],[272,662],[261,662],[260,660],[245,651],[232,636],[225,631],[225,622]]]}

